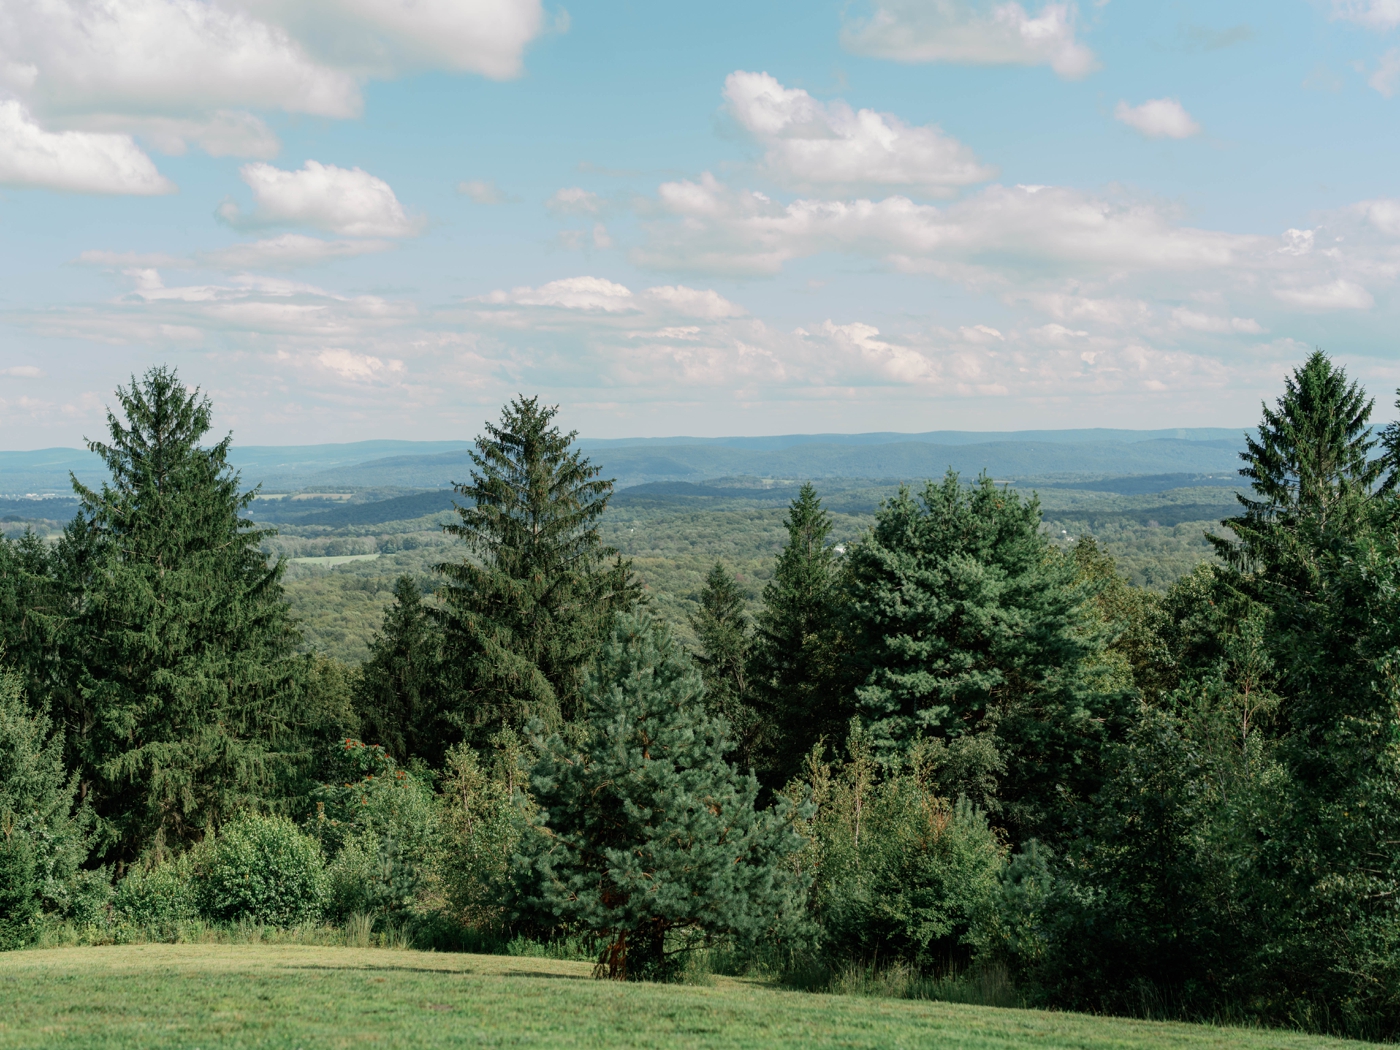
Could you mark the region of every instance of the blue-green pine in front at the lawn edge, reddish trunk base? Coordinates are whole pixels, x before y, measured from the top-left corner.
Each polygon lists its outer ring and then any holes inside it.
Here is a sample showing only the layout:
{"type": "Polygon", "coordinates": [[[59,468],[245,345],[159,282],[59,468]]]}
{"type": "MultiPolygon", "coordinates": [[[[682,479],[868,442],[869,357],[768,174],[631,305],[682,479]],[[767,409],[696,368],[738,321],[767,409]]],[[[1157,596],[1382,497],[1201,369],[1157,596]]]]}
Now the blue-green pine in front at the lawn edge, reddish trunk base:
{"type": "Polygon", "coordinates": [[[797,921],[792,813],[755,809],[759,784],[725,762],[728,727],[701,690],[665,627],[620,616],[584,745],[536,736],[539,811],[518,864],[535,907],[606,941],[599,976],[661,977],[686,934],[753,939],[797,921]]]}

